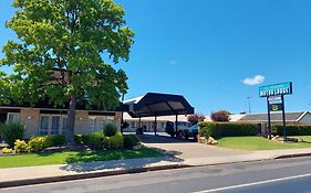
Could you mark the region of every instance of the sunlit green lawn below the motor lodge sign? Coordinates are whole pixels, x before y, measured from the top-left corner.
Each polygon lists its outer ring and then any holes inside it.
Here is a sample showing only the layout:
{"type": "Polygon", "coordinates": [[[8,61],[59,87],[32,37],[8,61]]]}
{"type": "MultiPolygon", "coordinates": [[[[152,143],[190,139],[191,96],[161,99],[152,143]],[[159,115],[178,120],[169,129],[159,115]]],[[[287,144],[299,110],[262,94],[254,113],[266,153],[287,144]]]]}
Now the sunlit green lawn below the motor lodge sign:
{"type": "Polygon", "coordinates": [[[243,150],[277,150],[292,148],[311,148],[311,136],[297,136],[305,142],[282,143],[270,141],[262,137],[227,137],[218,139],[218,146],[224,148],[243,149],[243,150]]]}

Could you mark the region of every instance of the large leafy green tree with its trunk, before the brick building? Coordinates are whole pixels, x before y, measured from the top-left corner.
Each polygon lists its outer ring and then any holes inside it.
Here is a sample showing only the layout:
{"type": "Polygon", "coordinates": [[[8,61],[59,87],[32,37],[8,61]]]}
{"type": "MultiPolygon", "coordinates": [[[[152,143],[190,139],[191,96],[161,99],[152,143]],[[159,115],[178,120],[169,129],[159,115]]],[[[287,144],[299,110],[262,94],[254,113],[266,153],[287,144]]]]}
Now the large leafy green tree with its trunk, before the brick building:
{"type": "Polygon", "coordinates": [[[108,64],[128,61],[134,33],[124,10],[112,0],[14,0],[12,6],[15,14],[6,25],[19,41],[3,46],[1,65],[14,73],[0,84],[18,101],[69,104],[68,140],[74,143],[76,105],[114,108],[127,90],[125,73],[108,64]]]}

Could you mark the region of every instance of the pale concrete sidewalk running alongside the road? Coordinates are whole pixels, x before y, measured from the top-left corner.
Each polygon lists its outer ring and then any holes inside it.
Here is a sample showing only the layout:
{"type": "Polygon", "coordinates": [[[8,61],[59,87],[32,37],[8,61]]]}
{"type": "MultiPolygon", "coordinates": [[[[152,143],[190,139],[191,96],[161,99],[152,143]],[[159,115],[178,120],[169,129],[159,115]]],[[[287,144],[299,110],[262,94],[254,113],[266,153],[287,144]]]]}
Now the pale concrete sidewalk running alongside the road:
{"type": "Polygon", "coordinates": [[[107,176],[107,175],[175,169],[175,168],[226,164],[226,163],[234,163],[234,162],[249,162],[249,161],[269,160],[269,159],[298,157],[298,156],[311,156],[311,148],[250,151],[243,153],[235,152],[235,154],[230,154],[230,156],[214,154],[210,157],[201,157],[201,158],[182,159],[182,158],[177,158],[178,156],[177,157],[167,156],[163,158],[115,160],[115,161],[102,161],[102,162],[90,162],[90,163],[76,163],[76,164],[68,164],[68,165],[59,164],[59,165],[0,169],[0,187],[59,182],[59,181],[77,180],[77,179],[86,179],[86,178],[95,178],[95,176],[107,176]]]}

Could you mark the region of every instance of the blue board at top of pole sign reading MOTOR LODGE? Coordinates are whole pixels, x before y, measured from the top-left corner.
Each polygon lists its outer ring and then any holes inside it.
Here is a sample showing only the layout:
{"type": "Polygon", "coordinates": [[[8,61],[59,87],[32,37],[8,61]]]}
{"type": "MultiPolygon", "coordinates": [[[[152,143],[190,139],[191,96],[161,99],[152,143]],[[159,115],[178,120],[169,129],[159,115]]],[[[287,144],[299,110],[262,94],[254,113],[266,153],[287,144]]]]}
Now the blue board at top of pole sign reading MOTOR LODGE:
{"type": "Polygon", "coordinates": [[[259,87],[260,97],[281,96],[292,94],[292,83],[281,83],[259,87]]]}

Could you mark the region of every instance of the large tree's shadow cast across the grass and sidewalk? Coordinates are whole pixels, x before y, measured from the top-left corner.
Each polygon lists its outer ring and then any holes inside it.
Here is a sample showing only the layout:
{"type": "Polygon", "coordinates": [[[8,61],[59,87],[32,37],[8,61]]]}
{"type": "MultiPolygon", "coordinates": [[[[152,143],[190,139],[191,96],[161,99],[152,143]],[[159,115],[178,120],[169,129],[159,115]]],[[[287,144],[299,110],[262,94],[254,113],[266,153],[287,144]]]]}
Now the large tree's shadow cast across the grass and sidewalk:
{"type": "Polygon", "coordinates": [[[184,160],[174,156],[165,157],[158,150],[147,148],[141,150],[84,151],[71,154],[66,159],[69,164],[62,167],[61,170],[82,173],[96,170],[137,169],[162,161],[182,162],[184,160]]]}

